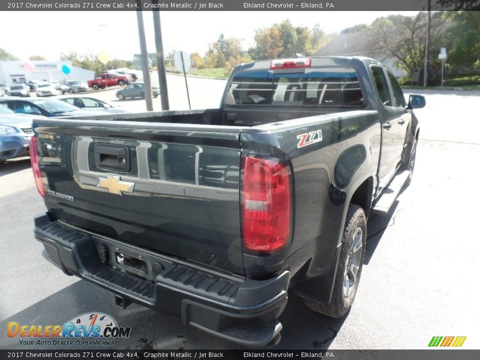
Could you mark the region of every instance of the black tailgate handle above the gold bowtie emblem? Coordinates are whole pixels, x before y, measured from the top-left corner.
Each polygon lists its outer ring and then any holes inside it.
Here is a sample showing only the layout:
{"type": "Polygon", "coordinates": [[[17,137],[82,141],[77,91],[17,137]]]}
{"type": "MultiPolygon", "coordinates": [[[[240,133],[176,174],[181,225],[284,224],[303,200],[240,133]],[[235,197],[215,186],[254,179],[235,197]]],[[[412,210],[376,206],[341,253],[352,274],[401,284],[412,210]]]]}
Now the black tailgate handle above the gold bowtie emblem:
{"type": "Polygon", "coordinates": [[[101,169],[130,171],[130,151],[125,145],[95,144],[95,165],[101,169]]]}

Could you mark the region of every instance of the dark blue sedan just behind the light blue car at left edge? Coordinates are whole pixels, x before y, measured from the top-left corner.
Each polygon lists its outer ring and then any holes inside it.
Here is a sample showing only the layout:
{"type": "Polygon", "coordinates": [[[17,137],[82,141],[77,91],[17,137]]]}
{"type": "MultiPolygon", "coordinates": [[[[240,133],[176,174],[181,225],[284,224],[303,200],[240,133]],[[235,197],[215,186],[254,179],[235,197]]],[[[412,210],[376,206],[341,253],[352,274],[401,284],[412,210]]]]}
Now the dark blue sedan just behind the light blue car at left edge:
{"type": "Polygon", "coordinates": [[[82,115],[104,115],[106,111],[82,110],[69,103],[56,99],[4,97],[0,98],[0,104],[8,107],[16,113],[43,115],[47,117],[55,116],[82,116],[82,115]]]}

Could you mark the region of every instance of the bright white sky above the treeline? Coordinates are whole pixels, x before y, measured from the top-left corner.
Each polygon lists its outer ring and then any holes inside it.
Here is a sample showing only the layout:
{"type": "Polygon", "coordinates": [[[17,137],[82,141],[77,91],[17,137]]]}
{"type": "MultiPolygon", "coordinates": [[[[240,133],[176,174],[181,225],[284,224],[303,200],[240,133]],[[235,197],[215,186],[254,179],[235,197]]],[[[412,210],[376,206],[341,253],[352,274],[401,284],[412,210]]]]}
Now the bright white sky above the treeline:
{"type": "MultiPolygon", "coordinates": [[[[289,19],[293,26],[320,24],[327,32],[339,32],[359,23],[370,24],[391,13],[414,15],[416,11],[160,11],[163,50],[203,55],[208,43],[225,37],[243,39],[244,49],[254,44],[254,30],[289,19]]],[[[143,11],[148,52],[155,52],[151,12],[143,11]]],[[[97,54],[110,59],[132,59],[139,53],[135,11],[1,11],[0,48],[28,60],[30,55],[59,59],[61,52],[97,54]],[[10,34],[10,35],[9,35],[10,34]]]]}

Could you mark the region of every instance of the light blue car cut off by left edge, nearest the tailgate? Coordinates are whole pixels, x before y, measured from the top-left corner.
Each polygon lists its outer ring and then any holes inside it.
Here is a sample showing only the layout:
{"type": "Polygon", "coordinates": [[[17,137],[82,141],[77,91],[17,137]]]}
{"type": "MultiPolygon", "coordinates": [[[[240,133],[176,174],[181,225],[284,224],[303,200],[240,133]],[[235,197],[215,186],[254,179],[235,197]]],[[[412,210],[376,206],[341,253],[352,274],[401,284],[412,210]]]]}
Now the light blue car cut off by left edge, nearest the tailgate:
{"type": "MultiPolygon", "coordinates": [[[[42,117],[42,116],[37,116],[42,117]]],[[[33,135],[31,115],[20,115],[0,105],[0,163],[29,156],[29,141],[33,135]]]]}

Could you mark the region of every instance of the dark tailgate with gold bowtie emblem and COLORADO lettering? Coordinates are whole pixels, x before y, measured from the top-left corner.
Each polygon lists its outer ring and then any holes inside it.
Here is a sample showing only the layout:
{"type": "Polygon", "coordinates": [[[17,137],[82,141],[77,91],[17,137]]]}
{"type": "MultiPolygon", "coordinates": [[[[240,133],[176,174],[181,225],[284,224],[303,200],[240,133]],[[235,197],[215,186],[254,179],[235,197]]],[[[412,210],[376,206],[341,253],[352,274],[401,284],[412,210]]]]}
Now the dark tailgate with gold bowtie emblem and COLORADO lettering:
{"type": "Polygon", "coordinates": [[[34,129],[54,219],[244,273],[237,128],[38,120],[34,129]]]}

